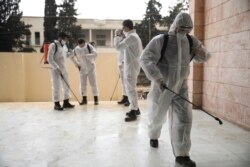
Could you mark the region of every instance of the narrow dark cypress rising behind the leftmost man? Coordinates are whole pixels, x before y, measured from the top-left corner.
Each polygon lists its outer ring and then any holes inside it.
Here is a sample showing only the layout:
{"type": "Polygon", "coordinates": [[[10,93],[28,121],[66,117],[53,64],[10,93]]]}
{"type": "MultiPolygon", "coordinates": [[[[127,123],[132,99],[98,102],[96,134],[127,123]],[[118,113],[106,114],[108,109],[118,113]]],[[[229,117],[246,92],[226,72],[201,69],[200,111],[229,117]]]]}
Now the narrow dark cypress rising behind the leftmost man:
{"type": "Polygon", "coordinates": [[[44,8],[44,42],[50,42],[57,36],[57,5],[55,0],[45,0],[44,8]]]}

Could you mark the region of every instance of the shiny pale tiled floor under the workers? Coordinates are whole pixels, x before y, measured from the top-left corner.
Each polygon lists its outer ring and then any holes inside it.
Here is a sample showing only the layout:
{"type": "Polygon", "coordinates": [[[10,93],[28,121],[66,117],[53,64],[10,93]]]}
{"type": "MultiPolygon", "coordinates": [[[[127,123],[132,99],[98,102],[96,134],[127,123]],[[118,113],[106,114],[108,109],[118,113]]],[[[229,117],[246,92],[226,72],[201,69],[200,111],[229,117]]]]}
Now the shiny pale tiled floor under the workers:
{"type": "MultiPolygon", "coordinates": [[[[75,103],[76,104],[76,103],[75,103]]],[[[52,103],[0,103],[1,167],[177,167],[163,127],[149,147],[146,102],[125,123],[116,102],[56,112],[52,103]]],[[[194,110],[191,158],[197,167],[249,167],[250,133],[194,110]]]]}

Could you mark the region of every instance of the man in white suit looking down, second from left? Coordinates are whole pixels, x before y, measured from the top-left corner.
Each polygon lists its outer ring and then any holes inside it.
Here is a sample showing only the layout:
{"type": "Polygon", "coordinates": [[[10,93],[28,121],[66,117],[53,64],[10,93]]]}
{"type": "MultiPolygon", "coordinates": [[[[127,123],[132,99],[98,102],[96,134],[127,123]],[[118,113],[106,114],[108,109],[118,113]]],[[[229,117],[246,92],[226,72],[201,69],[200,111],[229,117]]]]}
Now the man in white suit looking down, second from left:
{"type": "Polygon", "coordinates": [[[80,71],[80,90],[82,95],[81,105],[87,104],[87,80],[89,80],[92,94],[94,96],[94,104],[98,105],[98,89],[96,80],[96,65],[95,59],[97,53],[91,44],[86,44],[84,39],[78,40],[78,46],[74,49],[73,63],[80,71]]]}

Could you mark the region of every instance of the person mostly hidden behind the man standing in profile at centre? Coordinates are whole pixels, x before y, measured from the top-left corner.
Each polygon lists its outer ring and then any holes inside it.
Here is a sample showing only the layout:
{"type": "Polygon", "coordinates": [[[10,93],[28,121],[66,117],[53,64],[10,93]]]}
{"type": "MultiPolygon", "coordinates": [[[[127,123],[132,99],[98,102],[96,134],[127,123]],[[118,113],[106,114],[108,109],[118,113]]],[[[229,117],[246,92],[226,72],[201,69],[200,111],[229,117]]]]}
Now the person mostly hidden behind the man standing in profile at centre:
{"type": "MultiPolygon", "coordinates": [[[[124,37],[125,36],[122,32],[122,29],[116,29],[114,41],[121,41],[124,37]]],[[[121,78],[123,97],[117,103],[123,104],[125,106],[129,106],[128,96],[126,93],[125,81],[124,81],[124,53],[125,53],[125,50],[120,50],[118,53],[118,68],[119,68],[119,73],[120,73],[119,77],[121,78]]]]}

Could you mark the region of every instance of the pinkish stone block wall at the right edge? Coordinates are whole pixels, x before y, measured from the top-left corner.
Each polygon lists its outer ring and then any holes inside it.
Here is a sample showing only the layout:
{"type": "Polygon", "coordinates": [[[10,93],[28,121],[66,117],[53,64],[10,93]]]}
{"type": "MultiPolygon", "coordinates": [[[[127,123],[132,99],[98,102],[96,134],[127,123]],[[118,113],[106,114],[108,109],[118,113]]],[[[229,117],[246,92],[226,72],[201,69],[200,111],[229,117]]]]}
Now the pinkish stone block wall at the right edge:
{"type": "Polygon", "coordinates": [[[203,34],[212,54],[198,72],[203,80],[202,107],[250,128],[250,1],[191,0],[190,4],[192,17],[204,21],[203,30],[195,27],[194,34],[203,34]],[[197,5],[203,6],[203,14],[197,5]]]}

